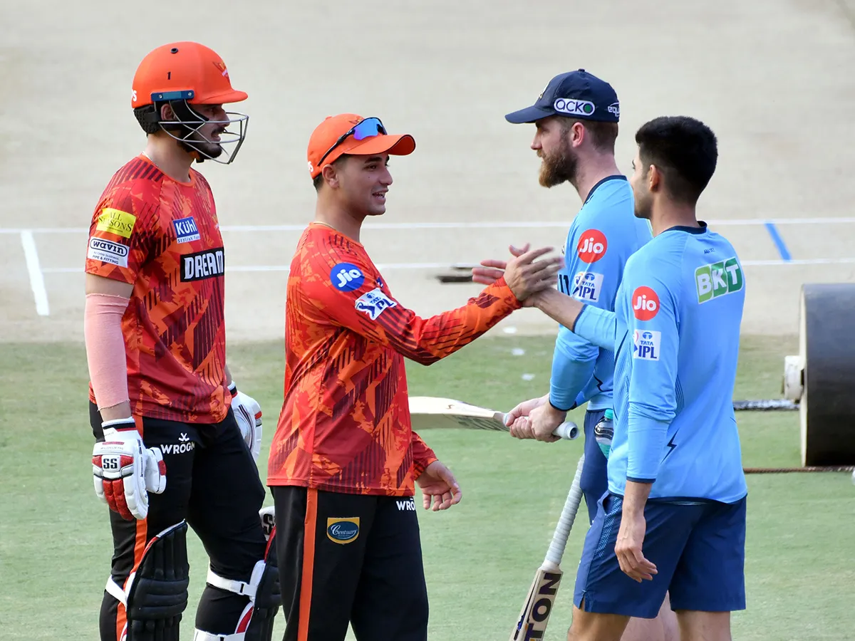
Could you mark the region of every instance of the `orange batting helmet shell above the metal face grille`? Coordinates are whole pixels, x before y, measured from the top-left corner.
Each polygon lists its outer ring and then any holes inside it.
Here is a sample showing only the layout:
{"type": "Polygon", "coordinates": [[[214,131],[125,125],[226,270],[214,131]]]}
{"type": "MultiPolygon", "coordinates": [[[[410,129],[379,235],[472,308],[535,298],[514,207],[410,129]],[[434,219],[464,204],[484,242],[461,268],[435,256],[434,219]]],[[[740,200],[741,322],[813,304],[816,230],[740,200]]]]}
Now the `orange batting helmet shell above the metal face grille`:
{"type": "Polygon", "coordinates": [[[196,42],[163,44],[143,58],[133,77],[131,105],[184,98],[191,104],[239,103],[245,91],[232,88],[226,63],[196,42]]]}

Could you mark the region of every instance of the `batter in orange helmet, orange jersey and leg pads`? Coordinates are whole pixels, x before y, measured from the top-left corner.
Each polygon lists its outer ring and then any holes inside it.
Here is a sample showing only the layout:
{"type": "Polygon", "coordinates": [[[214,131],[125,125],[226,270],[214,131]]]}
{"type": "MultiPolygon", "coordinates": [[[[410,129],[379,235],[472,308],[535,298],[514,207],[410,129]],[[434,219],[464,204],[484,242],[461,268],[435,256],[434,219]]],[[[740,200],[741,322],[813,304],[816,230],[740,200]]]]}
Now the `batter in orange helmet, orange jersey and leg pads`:
{"type": "Polygon", "coordinates": [[[193,638],[261,641],[273,631],[278,573],[254,461],[261,409],[226,367],[225,251],[208,182],[192,169],[233,161],[247,116],[222,105],[245,98],[208,47],[151,51],[131,98],[145,150],[114,174],[92,215],[84,321],[92,472],[114,542],[104,641],[179,638],[188,524],[209,555],[193,638]]]}

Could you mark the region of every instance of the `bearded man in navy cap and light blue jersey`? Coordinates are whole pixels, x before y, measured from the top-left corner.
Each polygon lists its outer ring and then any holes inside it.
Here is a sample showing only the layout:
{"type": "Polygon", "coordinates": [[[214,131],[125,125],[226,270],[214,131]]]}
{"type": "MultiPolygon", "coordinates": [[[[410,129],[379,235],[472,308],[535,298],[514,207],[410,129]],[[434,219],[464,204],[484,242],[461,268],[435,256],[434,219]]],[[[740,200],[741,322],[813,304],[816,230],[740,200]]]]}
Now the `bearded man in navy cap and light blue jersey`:
{"type": "MultiPolygon", "coordinates": [[[[617,286],[627,259],[652,238],[648,221],[635,217],[632,188],[615,162],[620,115],[620,103],[611,85],[579,69],[557,75],[531,107],[505,116],[514,124],[534,123],[531,148],[542,161],[540,185],[569,182],[582,201],[567,234],[559,289],[583,303],[610,311],[615,309],[617,286]]],[[[600,349],[559,326],[550,390],[543,397],[520,403],[508,417],[516,438],[551,442],[557,440],[552,431],[567,412],[587,402],[581,489],[591,521],[608,489],[606,461],[614,369],[615,357],[610,350],[600,349]]],[[[676,618],[667,597],[656,619],[630,620],[622,637],[623,641],[676,638],[676,618]]]]}

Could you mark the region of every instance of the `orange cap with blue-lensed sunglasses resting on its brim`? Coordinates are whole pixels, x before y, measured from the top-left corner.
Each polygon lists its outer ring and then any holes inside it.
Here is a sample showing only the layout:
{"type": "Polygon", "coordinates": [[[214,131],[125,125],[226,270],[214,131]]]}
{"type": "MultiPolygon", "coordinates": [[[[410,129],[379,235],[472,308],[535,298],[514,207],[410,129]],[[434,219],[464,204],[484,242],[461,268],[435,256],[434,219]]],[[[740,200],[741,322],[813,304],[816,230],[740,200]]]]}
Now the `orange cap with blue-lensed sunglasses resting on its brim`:
{"type": "Polygon", "coordinates": [[[415,149],[415,138],[409,133],[386,133],[386,127],[379,118],[363,118],[356,114],[329,115],[315,127],[309,138],[309,173],[315,179],[324,165],[335,162],[344,154],[407,156],[415,149]]]}

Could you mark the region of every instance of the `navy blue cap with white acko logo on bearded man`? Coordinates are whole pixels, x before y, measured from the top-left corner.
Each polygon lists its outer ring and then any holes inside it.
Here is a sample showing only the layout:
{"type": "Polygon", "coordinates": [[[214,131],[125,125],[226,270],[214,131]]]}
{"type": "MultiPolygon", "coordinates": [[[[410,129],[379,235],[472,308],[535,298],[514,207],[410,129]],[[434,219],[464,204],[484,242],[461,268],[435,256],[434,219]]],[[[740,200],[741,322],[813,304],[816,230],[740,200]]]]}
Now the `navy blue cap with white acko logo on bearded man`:
{"type": "Polygon", "coordinates": [[[559,74],[549,81],[531,107],[504,116],[515,125],[539,121],[551,115],[565,115],[587,121],[617,122],[621,105],[617,94],[605,80],[585,69],[559,74]]]}

